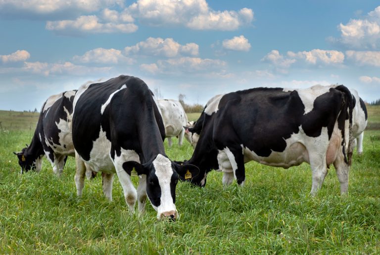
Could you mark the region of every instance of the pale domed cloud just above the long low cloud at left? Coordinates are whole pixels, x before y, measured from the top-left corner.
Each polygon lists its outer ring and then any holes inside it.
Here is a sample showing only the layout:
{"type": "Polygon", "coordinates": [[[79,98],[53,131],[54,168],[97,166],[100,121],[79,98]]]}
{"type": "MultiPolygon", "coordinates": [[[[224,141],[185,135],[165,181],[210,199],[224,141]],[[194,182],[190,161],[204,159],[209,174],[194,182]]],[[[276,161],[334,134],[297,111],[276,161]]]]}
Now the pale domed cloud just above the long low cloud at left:
{"type": "Polygon", "coordinates": [[[103,63],[103,64],[118,64],[119,62],[126,62],[128,64],[133,64],[134,60],[132,58],[127,58],[118,49],[104,49],[95,48],[87,51],[82,56],[74,56],[73,60],[79,61],[81,63],[103,63]]]}

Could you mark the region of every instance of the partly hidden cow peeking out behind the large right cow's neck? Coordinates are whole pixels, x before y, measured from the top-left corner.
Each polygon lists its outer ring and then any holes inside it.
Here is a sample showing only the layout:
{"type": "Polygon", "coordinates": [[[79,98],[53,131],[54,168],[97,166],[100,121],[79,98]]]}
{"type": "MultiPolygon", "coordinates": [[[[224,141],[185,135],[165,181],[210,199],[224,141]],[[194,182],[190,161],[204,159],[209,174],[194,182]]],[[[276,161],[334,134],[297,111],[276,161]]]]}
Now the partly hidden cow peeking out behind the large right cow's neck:
{"type": "Polygon", "coordinates": [[[198,120],[196,122],[193,122],[193,123],[188,123],[185,128],[185,138],[190,142],[190,144],[192,145],[192,147],[195,149],[195,146],[198,142],[198,139],[199,139],[199,135],[200,135],[200,131],[202,130],[202,127],[203,127],[203,122],[204,122],[204,110],[208,107],[208,108],[213,108],[213,107],[218,107],[218,105],[215,105],[215,104],[218,104],[219,103],[219,100],[220,98],[223,96],[224,94],[219,94],[219,95],[216,95],[216,96],[213,96],[210,100],[207,101],[205,107],[203,108],[203,111],[200,115],[200,117],[198,118],[198,120]]]}

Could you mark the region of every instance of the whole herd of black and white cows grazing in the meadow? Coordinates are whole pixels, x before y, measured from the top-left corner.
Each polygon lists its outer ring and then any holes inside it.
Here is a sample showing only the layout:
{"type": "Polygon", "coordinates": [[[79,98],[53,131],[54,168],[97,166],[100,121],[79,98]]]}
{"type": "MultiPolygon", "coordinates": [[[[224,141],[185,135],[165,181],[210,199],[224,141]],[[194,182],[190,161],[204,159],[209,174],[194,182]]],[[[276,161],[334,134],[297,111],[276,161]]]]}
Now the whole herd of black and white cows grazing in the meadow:
{"type": "MultiPolygon", "coordinates": [[[[175,100],[156,100],[139,78],[119,76],[50,96],[42,107],[31,144],[17,155],[21,173],[40,171],[47,157],[58,176],[68,156],[75,157],[75,184],[101,172],[112,200],[114,174],[131,213],[148,199],[157,218],[178,218],[178,180],[205,186],[209,171],[223,172],[223,184],[245,182],[244,164],[289,168],[307,162],[311,194],[321,188],[334,165],[341,194],[348,191],[354,139],[362,153],[367,111],[358,93],[343,85],[306,89],[251,88],[216,95],[199,119],[188,122],[175,100]],[[194,147],[189,160],[173,161],[163,145],[183,137],[194,147]],[[131,176],[139,176],[136,190],[131,176]]],[[[182,159],[177,159],[182,160],[182,159]]]]}

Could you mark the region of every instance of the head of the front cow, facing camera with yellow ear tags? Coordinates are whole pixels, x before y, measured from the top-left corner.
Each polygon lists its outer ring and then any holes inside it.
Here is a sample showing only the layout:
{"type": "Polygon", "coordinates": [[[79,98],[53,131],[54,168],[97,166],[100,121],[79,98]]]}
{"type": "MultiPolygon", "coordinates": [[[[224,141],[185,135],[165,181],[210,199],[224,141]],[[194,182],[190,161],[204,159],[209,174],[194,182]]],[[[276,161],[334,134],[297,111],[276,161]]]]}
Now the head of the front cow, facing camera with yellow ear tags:
{"type": "Polygon", "coordinates": [[[131,176],[146,174],[146,195],[157,211],[158,219],[164,216],[171,219],[178,217],[175,206],[178,179],[190,179],[199,173],[197,167],[178,165],[161,154],[158,154],[151,163],[127,161],[123,164],[123,169],[131,176]]]}

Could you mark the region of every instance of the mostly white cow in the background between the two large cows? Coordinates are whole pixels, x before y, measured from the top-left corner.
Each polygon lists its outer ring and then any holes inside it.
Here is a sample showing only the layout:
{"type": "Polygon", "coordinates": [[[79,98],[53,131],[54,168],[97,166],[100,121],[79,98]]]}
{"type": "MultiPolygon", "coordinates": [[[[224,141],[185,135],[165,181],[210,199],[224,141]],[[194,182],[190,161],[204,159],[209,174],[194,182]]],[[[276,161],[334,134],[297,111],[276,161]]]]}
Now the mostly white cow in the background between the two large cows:
{"type": "Polygon", "coordinates": [[[169,146],[172,146],[172,137],[178,137],[178,144],[182,145],[188,117],[181,103],[172,99],[157,100],[161,109],[162,120],[165,126],[165,137],[168,139],[169,146]]]}

